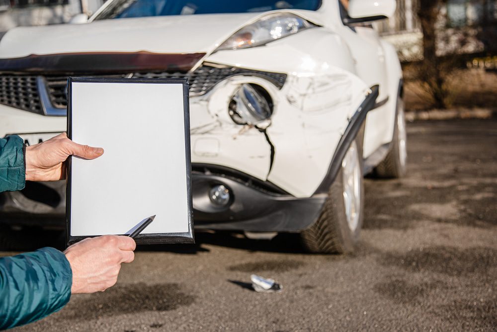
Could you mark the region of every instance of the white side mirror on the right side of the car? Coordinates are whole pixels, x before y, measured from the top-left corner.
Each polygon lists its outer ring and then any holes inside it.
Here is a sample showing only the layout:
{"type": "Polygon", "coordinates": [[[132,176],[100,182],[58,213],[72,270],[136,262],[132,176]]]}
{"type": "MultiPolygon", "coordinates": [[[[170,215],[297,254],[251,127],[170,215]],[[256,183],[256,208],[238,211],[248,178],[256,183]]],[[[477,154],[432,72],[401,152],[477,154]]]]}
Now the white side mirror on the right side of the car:
{"type": "Polygon", "coordinates": [[[360,23],[384,19],[395,13],[395,0],[350,0],[348,3],[348,22],[360,23]]]}

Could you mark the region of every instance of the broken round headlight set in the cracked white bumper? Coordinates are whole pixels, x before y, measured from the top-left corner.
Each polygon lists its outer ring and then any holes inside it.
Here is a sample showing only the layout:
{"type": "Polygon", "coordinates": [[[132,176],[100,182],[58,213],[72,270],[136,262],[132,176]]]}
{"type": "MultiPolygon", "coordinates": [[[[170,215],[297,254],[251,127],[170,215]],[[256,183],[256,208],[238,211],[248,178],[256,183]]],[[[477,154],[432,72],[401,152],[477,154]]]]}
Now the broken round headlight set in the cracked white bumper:
{"type": "Polygon", "coordinates": [[[256,124],[271,117],[273,103],[261,86],[242,84],[231,99],[228,111],[237,124],[256,124]]]}

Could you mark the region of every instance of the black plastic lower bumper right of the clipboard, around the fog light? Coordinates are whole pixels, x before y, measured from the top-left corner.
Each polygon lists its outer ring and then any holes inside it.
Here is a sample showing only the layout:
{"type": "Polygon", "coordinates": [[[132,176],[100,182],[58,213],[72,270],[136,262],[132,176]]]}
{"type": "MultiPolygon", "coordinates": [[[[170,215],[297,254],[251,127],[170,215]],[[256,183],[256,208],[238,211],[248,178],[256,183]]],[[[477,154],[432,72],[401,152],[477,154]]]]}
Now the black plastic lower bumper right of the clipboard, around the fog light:
{"type": "Polygon", "coordinates": [[[214,174],[194,173],[193,178],[195,229],[297,232],[317,220],[327,197],[271,195],[214,174]],[[215,185],[224,185],[231,193],[225,207],[209,201],[209,188],[215,185]]]}

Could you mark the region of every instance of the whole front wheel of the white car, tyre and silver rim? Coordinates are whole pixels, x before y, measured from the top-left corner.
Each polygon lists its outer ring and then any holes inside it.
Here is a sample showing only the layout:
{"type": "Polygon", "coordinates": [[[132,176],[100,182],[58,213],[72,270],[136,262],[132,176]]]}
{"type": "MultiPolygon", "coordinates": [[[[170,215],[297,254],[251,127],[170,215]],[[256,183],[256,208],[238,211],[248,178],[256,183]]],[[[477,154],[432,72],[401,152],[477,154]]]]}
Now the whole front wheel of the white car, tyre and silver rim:
{"type": "Polygon", "coordinates": [[[318,220],[301,233],[304,247],[315,253],[352,252],[364,211],[362,146],[352,142],[330,187],[318,220]]]}

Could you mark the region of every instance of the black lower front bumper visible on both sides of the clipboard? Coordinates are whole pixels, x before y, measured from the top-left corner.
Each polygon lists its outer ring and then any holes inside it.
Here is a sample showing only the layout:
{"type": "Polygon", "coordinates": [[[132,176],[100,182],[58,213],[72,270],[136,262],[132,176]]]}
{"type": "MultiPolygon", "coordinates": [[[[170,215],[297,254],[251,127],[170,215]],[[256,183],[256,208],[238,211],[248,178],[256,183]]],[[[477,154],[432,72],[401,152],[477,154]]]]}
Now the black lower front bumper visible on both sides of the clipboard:
{"type": "MultiPolygon", "coordinates": [[[[235,170],[194,165],[192,174],[195,229],[295,232],[317,220],[326,194],[296,198],[235,170]],[[223,185],[230,193],[224,207],[209,198],[223,185]]],[[[27,183],[20,192],[0,194],[0,222],[65,227],[65,181],[27,183]]],[[[167,202],[165,202],[167,204],[167,202]]]]}

